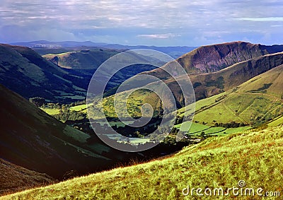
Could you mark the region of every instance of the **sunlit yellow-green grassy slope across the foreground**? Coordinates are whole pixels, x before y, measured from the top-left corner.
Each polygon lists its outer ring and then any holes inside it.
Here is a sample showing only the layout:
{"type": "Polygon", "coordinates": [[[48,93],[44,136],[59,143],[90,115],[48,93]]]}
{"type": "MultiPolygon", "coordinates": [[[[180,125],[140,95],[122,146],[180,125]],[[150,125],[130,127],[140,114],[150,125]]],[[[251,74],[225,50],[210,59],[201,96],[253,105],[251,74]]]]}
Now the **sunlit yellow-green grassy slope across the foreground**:
{"type": "MultiPolygon", "coordinates": [[[[226,192],[238,187],[240,180],[246,182],[243,189],[256,191],[261,187],[262,194],[282,194],[282,155],[283,127],[245,131],[206,139],[171,158],[119,167],[1,199],[192,199],[190,194],[183,196],[183,188],[213,191],[221,187],[226,192]]],[[[256,192],[255,196],[229,194],[204,195],[202,199],[262,199],[256,192]]],[[[200,197],[195,192],[193,196],[200,197]]]]}

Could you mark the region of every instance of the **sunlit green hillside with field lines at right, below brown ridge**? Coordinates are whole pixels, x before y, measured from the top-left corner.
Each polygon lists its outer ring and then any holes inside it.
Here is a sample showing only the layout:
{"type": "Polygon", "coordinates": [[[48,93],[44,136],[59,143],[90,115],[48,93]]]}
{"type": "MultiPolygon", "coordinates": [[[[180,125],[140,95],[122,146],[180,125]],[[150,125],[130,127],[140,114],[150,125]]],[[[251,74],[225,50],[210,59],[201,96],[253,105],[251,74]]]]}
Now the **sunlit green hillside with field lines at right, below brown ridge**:
{"type": "MultiPolygon", "coordinates": [[[[200,100],[196,104],[194,120],[209,126],[216,123],[260,125],[269,122],[283,114],[282,80],[283,65],[280,65],[232,90],[200,100]]],[[[179,110],[180,116],[183,111],[179,110]]],[[[274,124],[278,125],[277,122],[274,124]]]]}

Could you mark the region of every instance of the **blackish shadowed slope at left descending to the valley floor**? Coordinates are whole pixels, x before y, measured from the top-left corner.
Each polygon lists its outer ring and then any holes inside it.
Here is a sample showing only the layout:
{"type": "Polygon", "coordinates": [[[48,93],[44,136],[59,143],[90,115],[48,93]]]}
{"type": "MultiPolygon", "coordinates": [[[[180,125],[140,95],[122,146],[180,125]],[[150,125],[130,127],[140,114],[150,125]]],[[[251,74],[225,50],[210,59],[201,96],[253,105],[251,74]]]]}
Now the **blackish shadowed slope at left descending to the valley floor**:
{"type": "Polygon", "coordinates": [[[107,146],[88,144],[88,134],[57,121],[4,86],[0,91],[0,158],[60,178],[69,170],[91,172],[113,164],[101,155],[110,151],[107,146]]]}

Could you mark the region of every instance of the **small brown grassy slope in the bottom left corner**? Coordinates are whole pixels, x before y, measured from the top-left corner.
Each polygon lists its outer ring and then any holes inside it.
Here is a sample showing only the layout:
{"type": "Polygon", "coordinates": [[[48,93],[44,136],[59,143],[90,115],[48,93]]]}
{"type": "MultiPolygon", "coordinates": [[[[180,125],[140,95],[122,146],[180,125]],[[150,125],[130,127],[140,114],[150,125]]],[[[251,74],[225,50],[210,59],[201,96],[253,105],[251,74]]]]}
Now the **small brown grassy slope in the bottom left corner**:
{"type": "Polygon", "coordinates": [[[34,172],[0,159],[0,195],[54,183],[48,175],[34,172]]]}

